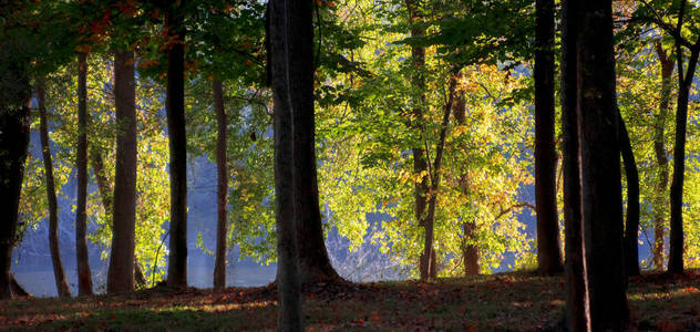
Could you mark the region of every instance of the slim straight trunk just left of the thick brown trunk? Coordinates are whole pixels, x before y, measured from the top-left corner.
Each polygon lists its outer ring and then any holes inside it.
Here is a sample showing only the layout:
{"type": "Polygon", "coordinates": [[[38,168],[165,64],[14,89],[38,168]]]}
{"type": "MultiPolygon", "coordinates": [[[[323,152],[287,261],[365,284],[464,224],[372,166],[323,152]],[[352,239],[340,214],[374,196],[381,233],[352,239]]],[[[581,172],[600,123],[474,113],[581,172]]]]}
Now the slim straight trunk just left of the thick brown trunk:
{"type": "Polygon", "coordinates": [[[92,276],[87,257],[87,54],[78,54],[78,203],[75,205],[75,259],[78,293],[92,295],[92,276]]]}

